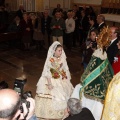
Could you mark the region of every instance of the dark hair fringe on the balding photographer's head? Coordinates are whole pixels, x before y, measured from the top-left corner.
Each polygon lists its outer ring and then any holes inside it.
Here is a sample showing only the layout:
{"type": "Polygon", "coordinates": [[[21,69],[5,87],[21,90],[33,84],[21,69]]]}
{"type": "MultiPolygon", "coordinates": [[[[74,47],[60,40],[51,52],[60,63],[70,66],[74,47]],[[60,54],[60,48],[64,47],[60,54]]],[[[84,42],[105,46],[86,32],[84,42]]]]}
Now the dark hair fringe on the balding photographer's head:
{"type": "Polygon", "coordinates": [[[7,108],[5,110],[0,110],[0,118],[3,119],[8,118],[9,120],[11,120],[18,111],[20,107],[20,103],[21,103],[21,99],[19,98],[16,104],[13,104],[10,108],[7,108]]]}

